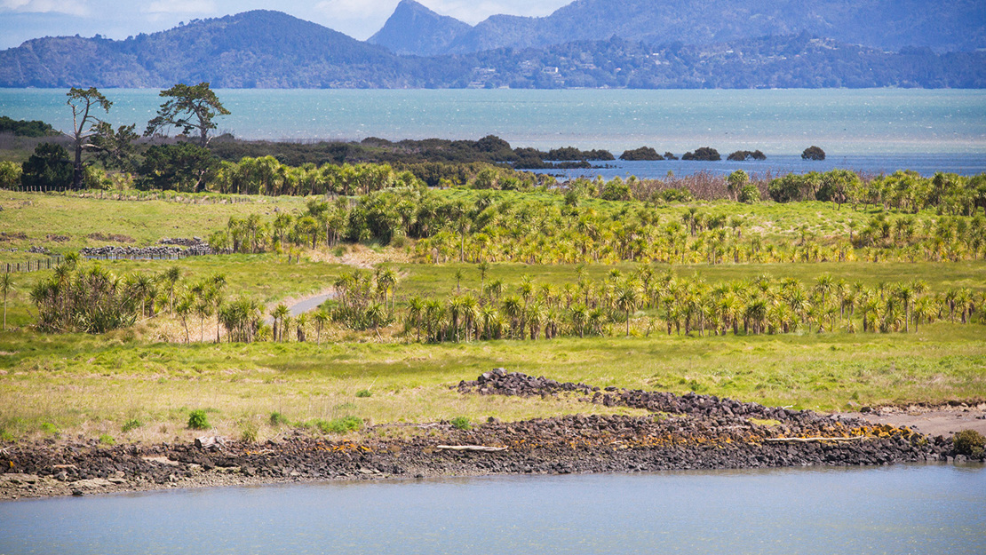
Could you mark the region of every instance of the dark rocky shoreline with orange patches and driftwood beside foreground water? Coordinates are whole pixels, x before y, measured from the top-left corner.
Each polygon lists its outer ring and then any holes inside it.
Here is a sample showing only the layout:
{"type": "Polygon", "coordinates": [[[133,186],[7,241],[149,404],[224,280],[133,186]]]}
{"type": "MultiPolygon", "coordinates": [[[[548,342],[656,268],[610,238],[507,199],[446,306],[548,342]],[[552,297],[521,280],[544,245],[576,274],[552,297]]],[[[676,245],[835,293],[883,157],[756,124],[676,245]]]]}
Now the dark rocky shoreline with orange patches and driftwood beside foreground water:
{"type": "Polygon", "coordinates": [[[211,448],[106,447],[95,440],[7,444],[0,446],[0,499],[331,479],[967,460],[951,438],[712,395],[600,389],[502,369],[455,387],[462,394],[573,395],[649,414],[491,419],[471,429],[389,424],[335,439],[295,430],[260,445],[211,448]]]}

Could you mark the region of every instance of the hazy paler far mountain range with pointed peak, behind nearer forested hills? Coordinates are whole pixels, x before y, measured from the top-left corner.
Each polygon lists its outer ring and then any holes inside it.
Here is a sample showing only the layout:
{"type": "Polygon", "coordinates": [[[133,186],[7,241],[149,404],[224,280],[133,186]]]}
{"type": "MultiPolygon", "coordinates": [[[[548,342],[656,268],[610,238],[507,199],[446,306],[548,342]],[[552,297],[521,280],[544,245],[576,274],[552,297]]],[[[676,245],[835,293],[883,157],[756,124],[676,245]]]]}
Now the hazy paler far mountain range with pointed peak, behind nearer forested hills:
{"type": "MultiPolygon", "coordinates": [[[[398,6],[398,10],[401,7],[398,6]]],[[[388,23],[375,43],[402,53],[427,43],[428,30],[388,23]],[[420,35],[415,37],[414,35],[420,35]],[[400,42],[390,36],[400,36],[400,42]]],[[[492,16],[458,35],[448,53],[542,47],[616,35],[651,44],[708,44],[808,32],[839,42],[898,50],[930,47],[971,51],[986,47],[986,2],[981,0],[576,0],[543,18],[492,16]]]]}

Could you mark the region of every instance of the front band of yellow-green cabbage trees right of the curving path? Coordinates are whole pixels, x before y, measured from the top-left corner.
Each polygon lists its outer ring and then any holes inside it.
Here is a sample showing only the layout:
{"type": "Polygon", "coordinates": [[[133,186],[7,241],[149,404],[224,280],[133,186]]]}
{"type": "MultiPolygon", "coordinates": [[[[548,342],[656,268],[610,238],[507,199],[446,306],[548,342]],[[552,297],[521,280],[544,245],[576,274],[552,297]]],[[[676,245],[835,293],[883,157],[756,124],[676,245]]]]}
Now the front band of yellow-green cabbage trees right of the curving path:
{"type": "Polygon", "coordinates": [[[986,301],[964,288],[934,293],[921,281],[868,288],[827,274],[813,283],[756,277],[710,284],[641,264],[595,281],[580,267],[576,277],[556,286],[524,276],[516,288],[484,279],[477,291],[447,299],[413,297],[394,317],[405,337],[430,342],[631,332],[909,332],[939,319],[982,320],[986,301]]]}

